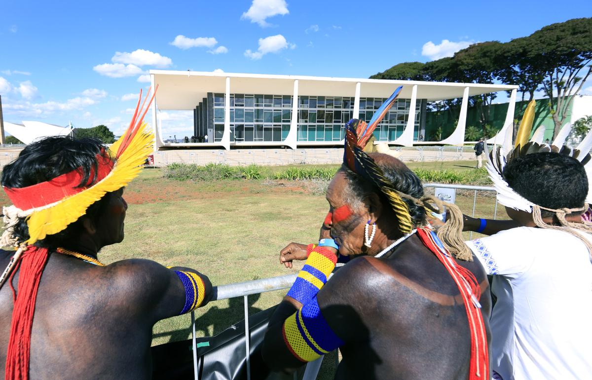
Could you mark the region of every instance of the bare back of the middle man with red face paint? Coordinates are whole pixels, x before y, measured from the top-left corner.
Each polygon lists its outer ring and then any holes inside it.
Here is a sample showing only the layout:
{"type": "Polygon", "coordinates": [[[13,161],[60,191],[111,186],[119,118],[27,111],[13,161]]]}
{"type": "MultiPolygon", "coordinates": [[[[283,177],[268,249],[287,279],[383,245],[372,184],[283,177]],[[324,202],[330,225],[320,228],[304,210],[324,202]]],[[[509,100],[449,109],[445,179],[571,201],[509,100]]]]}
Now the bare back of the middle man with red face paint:
{"type": "MultiPolygon", "coordinates": [[[[489,333],[485,272],[477,260],[458,263],[480,282],[489,333]]],[[[317,300],[330,328],[345,342],[336,379],[468,377],[471,336],[464,303],[451,275],[417,236],[388,257],[352,260],[320,289],[317,300]]],[[[282,323],[294,311],[284,301],[270,322],[274,332],[268,334],[279,339],[266,341],[266,349],[268,356],[274,352],[276,369],[299,365],[281,340],[282,323]]]]}

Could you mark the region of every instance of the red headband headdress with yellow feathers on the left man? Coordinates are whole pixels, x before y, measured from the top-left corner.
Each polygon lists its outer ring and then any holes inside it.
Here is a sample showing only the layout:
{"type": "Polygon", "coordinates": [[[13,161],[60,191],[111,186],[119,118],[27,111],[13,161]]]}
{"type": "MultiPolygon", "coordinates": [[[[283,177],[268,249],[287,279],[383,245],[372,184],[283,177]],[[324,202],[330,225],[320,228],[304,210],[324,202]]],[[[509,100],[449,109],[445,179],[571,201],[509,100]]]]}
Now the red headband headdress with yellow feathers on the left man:
{"type": "MultiPolygon", "coordinates": [[[[141,102],[140,91],[136,111],[126,133],[110,149],[97,155],[98,170],[94,183],[83,188],[78,187],[81,170],[73,170],[26,188],[4,188],[13,202],[12,206],[4,209],[4,215],[8,218],[27,217],[30,237],[25,243],[33,244],[47,235],[59,233],[84,215],[86,209],[107,192],[116,191],[136,178],[152,150],[154,136],[143,119],[154,96],[152,94],[149,102],[149,96],[141,102]]],[[[11,228],[7,228],[5,234],[9,234],[10,230],[11,228]]],[[[10,240],[9,236],[3,236],[3,242],[10,240]]]]}

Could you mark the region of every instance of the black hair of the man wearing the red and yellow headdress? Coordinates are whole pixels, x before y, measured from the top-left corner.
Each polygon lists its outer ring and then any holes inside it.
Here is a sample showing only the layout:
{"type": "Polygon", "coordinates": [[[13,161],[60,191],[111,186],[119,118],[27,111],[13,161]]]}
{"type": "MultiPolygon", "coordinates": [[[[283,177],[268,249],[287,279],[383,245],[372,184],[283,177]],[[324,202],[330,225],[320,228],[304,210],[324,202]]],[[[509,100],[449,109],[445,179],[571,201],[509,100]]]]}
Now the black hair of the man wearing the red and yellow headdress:
{"type": "MultiPolygon", "coordinates": [[[[70,136],[52,136],[27,145],[14,162],[2,169],[2,186],[9,188],[24,188],[46,182],[72,170],[81,170],[82,181],[77,186],[82,187],[96,180],[98,161],[96,154],[104,148],[99,139],[74,139],[70,136]],[[94,178],[91,173],[94,170],[94,178]]],[[[99,199],[86,210],[86,216],[96,220],[99,211],[107,204],[109,194],[99,199]]],[[[78,240],[82,231],[80,218],[70,223],[65,230],[48,235],[37,241],[40,247],[55,248],[63,246],[67,241],[78,240]]],[[[14,236],[21,243],[29,239],[26,218],[19,218],[14,226],[14,236]]]]}

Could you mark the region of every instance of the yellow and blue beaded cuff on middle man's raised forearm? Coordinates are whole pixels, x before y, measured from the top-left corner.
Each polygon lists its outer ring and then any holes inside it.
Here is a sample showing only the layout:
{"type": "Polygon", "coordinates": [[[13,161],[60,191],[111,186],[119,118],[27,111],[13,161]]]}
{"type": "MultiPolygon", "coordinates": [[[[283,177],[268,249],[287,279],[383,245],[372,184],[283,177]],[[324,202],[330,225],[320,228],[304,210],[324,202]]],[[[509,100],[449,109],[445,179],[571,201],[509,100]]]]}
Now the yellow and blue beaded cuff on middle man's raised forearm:
{"type": "Polygon", "coordinates": [[[312,246],[308,259],[287,295],[303,305],[310,302],[327,282],[336,262],[337,256],[330,250],[312,246]]]}

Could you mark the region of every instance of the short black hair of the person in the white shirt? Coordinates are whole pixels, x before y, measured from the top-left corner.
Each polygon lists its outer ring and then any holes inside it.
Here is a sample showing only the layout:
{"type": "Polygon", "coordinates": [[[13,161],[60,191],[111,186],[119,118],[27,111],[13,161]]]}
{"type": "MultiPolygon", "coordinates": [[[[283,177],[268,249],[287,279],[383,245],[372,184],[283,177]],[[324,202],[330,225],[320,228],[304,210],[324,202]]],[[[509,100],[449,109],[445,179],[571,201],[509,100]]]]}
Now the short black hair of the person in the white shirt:
{"type": "MultiPolygon", "coordinates": [[[[565,154],[532,153],[517,157],[506,165],[503,175],[514,191],[546,208],[583,207],[588,194],[584,166],[565,154]]],[[[542,210],[541,215],[551,217],[553,213],[542,210]]]]}

